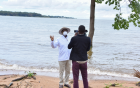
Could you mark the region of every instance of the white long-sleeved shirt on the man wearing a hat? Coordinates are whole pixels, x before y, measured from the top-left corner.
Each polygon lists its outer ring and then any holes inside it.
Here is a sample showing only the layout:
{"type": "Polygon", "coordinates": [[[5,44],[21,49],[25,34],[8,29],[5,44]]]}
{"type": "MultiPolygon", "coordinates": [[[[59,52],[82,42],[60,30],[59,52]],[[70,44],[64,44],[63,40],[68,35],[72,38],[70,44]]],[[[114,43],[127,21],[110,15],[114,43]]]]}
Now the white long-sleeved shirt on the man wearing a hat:
{"type": "Polygon", "coordinates": [[[68,37],[65,38],[63,35],[59,37],[55,42],[51,41],[52,48],[56,48],[58,46],[59,49],[58,61],[69,60],[71,49],[68,49],[68,44],[69,44],[68,37]]]}

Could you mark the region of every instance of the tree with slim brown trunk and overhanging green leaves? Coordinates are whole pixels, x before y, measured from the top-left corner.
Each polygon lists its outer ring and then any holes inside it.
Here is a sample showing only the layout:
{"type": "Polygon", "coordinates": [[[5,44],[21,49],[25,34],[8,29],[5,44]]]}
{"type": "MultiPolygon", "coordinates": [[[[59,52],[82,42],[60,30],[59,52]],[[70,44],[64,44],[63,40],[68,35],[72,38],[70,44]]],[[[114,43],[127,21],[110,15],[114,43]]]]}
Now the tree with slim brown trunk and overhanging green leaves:
{"type": "MultiPolygon", "coordinates": [[[[128,16],[127,19],[122,17],[121,12],[121,1],[123,0],[91,0],[91,7],[90,7],[90,31],[89,31],[89,37],[91,40],[93,40],[94,36],[94,20],[95,20],[95,3],[101,4],[105,3],[107,5],[115,5],[114,10],[120,10],[120,13],[116,14],[116,17],[114,18],[114,24],[112,24],[113,28],[116,30],[120,29],[128,29],[129,24],[133,23],[134,26],[140,27],[140,0],[126,0],[129,1],[128,8],[131,9],[131,13],[128,16]]],[[[91,42],[92,46],[92,42],[91,42]]]]}

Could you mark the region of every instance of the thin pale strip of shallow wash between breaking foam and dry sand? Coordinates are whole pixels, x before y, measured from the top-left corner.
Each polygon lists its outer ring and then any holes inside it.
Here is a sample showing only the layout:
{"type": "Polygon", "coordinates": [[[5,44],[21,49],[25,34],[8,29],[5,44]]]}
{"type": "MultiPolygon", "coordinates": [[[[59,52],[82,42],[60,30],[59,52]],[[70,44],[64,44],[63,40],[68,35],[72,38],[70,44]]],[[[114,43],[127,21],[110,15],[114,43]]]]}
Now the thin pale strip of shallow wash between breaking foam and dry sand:
{"type": "MultiPolygon", "coordinates": [[[[10,74],[18,74],[25,75],[28,71],[25,70],[7,70],[0,69],[0,75],[10,75],[10,74]]],[[[48,77],[56,77],[59,78],[59,72],[51,72],[51,71],[31,71],[37,73],[40,76],[48,76],[48,77]]],[[[70,79],[73,79],[72,73],[70,74],[70,79]]],[[[79,80],[82,80],[81,74],[79,75],[79,80]]],[[[124,81],[140,81],[137,77],[118,77],[118,76],[110,76],[110,75],[99,75],[99,74],[88,74],[88,80],[124,80],[124,81]]]]}

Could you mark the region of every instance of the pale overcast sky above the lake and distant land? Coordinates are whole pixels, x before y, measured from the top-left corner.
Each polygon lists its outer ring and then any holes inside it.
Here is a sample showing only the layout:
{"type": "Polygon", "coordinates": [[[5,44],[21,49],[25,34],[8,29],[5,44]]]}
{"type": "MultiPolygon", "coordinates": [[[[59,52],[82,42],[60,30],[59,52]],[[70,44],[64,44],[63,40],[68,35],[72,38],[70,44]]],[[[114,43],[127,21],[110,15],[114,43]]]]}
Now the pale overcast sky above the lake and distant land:
{"type": "MultiPolygon", "coordinates": [[[[67,16],[78,19],[89,19],[91,0],[0,0],[0,10],[36,12],[43,15],[67,16]]],[[[122,12],[127,17],[130,10],[128,2],[122,0],[122,12]]],[[[96,4],[96,19],[114,19],[119,11],[113,10],[113,6],[96,4]]]]}

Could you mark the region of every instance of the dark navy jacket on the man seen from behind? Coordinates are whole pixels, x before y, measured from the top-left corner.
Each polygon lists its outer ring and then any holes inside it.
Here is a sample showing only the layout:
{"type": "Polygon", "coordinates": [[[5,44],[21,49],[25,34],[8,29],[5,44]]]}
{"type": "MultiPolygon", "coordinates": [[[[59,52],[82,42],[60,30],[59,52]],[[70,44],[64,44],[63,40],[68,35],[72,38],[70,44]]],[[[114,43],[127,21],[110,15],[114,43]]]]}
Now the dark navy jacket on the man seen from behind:
{"type": "Polygon", "coordinates": [[[72,47],[70,60],[74,61],[86,61],[87,51],[90,49],[90,38],[85,35],[78,34],[71,39],[71,43],[68,48],[72,47]],[[73,47],[72,47],[73,46],[73,47]]]}

